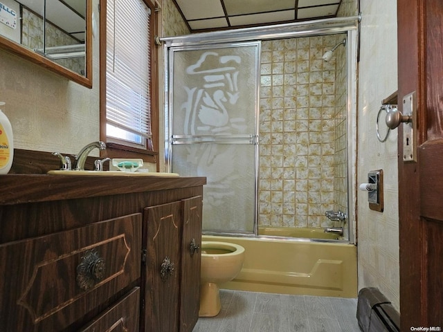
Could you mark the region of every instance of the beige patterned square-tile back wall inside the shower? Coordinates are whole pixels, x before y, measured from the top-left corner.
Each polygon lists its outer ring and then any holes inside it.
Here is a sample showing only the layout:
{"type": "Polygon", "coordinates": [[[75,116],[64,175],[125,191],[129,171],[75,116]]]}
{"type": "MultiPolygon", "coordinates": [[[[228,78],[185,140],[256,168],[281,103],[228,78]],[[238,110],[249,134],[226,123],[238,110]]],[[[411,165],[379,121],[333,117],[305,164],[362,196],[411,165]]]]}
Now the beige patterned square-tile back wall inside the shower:
{"type": "Polygon", "coordinates": [[[342,39],[262,42],[259,225],[326,227],[325,211],[347,205],[345,57],[321,59],[342,39]]]}

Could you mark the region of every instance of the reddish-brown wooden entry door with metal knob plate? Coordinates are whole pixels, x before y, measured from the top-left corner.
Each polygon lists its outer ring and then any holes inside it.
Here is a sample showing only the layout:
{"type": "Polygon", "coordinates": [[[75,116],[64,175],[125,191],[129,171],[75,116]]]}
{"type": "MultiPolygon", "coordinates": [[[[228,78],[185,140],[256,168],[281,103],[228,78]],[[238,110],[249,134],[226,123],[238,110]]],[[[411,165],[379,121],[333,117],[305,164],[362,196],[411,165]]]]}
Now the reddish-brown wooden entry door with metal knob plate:
{"type": "Polygon", "coordinates": [[[417,163],[404,163],[399,127],[401,331],[443,329],[443,1],[397,11],[399,109],[416,91],[418,128],[417,163]]]}

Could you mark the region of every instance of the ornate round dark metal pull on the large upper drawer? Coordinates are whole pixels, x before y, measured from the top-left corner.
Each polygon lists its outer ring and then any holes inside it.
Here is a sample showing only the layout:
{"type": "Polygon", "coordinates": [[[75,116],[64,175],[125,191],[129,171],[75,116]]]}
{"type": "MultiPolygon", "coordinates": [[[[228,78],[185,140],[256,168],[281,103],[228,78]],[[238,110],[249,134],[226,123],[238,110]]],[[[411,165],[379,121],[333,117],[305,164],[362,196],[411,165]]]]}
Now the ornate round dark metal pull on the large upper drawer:
{"type": "Polygon", "coordinates": [[[78,286],[86,291],[103,277],[105,277],[105,259],[98,255],[97,250],[88,250],[77,266],[76,280],[78,286]]]}

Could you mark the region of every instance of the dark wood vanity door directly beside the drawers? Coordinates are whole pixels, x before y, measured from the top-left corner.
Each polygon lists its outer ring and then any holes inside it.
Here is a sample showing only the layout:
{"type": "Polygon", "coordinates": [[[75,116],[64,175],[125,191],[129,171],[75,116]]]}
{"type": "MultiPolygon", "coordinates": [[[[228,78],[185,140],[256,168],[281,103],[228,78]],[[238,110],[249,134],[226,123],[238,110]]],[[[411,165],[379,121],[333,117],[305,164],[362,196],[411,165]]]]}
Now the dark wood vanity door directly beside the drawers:
{"type": "Polygon", "coordinates": [[[145,209],[145,331],[179,331],[181,201],[145,209]]]}

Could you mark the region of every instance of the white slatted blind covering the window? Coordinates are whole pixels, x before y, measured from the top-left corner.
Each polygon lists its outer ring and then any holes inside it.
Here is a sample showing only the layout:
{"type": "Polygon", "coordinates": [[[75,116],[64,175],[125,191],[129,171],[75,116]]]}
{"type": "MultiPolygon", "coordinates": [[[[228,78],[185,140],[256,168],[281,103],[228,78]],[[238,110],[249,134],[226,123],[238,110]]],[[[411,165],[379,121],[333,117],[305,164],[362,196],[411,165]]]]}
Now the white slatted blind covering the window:
{"type": "Polygon", "coordinates": [[[107,1],[107,136],[143,144],[151,136],[150,8],[107,1]]]}

